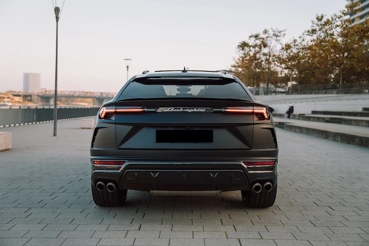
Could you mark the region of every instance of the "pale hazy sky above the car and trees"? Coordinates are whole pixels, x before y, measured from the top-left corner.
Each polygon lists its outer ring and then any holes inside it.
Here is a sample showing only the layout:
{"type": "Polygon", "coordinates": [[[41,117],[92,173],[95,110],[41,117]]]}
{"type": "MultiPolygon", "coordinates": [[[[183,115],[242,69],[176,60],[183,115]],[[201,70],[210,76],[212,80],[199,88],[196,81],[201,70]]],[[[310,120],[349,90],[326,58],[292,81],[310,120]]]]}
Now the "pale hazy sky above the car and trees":
{"type": "MultiPolygon", "coordinates": [[[[0,92],[23,73],[54,90],[56,19],[63,0],[0,0],[0,92]]],[[[346,0],[65,0],[59,20],[58,89],[118,92],[145,70],[229,69],[237,45],[265,28],[298,37],[317,14],[346,0]]]]}

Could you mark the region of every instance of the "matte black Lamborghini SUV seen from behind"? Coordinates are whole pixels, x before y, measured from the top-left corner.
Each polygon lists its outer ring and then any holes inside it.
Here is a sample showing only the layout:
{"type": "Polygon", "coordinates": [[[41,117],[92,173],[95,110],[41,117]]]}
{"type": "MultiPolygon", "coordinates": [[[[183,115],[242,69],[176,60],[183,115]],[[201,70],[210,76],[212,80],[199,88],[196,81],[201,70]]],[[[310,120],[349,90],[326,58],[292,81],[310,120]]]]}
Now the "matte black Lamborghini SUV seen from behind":
{"type": "Polygon", "coordinates": [[[122,206],[127,190],[237,191],[265,208],[277,195],[278,146],[268,107],[224,71],[145,71],[98,111],[92,197],[122,206]]]}

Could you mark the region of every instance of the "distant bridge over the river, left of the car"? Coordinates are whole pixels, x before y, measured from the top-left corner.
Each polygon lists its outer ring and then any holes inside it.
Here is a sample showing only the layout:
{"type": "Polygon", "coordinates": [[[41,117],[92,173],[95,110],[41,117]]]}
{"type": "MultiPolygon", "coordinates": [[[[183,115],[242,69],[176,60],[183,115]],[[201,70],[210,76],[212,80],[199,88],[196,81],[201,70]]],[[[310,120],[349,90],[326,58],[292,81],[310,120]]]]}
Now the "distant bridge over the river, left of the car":
{"type": "MultiPolygon", "coordinates": [[[[30,101],[38,105],[53,105],[54,91],[46,90],[42,93],[11,93],[14,97],[22,97],[24,101],[30,101]]],[[[92,91],[58,91],[58,98],[82,98],[92,99],[92,106],[101,106],[111,100],[115,93],[111,92],[92,92],[92,91]]]]}

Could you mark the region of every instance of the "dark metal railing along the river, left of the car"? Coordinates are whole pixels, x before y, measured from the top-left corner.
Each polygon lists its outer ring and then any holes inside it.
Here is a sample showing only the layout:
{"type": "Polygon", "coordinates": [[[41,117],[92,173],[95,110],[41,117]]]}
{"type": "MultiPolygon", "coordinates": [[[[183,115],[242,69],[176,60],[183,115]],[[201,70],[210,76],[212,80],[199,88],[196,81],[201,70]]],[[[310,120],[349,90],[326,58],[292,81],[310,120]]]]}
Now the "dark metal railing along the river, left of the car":
{"type": "MultiPolygon", "coordinates": [[[[72,119],[94,116],[99,108],[58,108],[59,119],[72,119]]],[[[0,109],[0,127],[21,124],[48,122],[54,120],[52,107],[9,107],[0,109]]]]}

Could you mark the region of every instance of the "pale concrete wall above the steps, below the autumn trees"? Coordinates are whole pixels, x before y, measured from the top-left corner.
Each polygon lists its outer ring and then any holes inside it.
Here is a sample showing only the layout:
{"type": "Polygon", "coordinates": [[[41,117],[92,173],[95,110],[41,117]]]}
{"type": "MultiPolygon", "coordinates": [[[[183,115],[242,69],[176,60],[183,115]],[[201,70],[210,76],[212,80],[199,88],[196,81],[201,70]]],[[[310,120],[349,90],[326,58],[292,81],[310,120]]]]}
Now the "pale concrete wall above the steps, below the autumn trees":
{"type": "MultiPolygon", "coordinates": [[[[304,98],[307,95],[301,95],[300,98],[304,98]]],[[[311,96],[311,95],[310,95],[311,96]]],[[[268,103],[267,101],[278,100],[280,95],[268,95],[268,96],[255,96],[255,98],[271,106],[275,113],[285,113],[288,109],[289,102],[284,103],[268,103]],[[275,97],[275,98],[274,98],[275,97]]],[[[298,98],[298,95],[294,95],[294,98],[298,98]]],[[[329,102],[302,102],[292,103],[294,106],[294,113],[311,113],[312,110],[319,111],[362,111],[363,108],[369,106],[369,99],[362,100],[342,100],[342,101],[329,101],[329,102]]]]}

